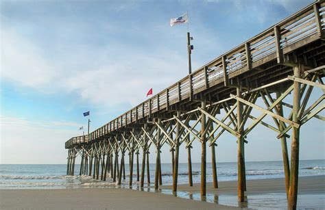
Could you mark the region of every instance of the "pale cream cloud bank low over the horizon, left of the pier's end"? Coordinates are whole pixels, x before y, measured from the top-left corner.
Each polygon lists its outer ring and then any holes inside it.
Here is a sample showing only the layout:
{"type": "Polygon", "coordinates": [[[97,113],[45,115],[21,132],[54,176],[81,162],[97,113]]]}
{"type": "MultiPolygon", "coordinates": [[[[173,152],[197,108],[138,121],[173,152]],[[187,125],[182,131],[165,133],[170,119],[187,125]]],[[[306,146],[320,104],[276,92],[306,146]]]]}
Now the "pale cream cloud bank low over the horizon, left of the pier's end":
{"type": "Polygon", "coordinates": [[[1,116],[0,163],[65,163],[64,142],[78,134],[77,126],[1,116]]]}

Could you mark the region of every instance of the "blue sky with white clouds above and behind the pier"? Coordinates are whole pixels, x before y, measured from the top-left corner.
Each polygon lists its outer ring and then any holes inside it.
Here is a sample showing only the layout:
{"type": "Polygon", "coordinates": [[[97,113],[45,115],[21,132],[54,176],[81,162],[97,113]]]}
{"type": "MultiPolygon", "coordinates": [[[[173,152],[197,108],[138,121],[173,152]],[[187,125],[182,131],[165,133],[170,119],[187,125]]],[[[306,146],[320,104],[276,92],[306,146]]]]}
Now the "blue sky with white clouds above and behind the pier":
{"type": "MultiPolygon", "coordinates": [[[[185,77],[188,27],[195,70],[309,3],[0,1],[0,163],[66,163],[64,142],[87,127],[84,111],[93,131],[145,101],[150,88],[156,94],[185,77]],[[185,12],[189,25],[169,26],[185,12]]],[[[325,158],[319,122],[301,129],[301,159],[325,158]]],[[[247,161],[282,158],[273,131],[258,126],[248,140],[247,161]]],[[[237,160],[234,137],[218,145],[217,161],[237,160]]],[[[200,162],[198,142],[194,150],[200,162]]],[[[170,162],[167,148],[162,161],[170,162]]]]}

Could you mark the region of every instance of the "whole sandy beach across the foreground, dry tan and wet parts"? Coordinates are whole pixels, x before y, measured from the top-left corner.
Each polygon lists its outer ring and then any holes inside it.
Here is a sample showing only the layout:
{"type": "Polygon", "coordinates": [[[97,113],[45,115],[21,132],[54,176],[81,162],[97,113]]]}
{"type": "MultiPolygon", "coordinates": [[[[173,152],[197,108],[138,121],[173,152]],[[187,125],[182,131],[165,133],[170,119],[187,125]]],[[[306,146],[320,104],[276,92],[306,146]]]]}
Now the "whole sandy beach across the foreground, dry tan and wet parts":
{"type": "MultiPolygon", "coordinates": [[[[285,208],[284,185],[284,179],[248,180],[247,202],[241,207],[285,208]]],[[[178,185],[178,197],[171,195],[171,186],[161,186],[161,192],[152,188],[145,187],[142,192],[123,188],[1,189],[0,209],[236,209],[230,206],[238,206],[236,181],[219,182],[219,189],[208,183],[206,201],[200,198],[199,183],[193,187],[178,185]]],[[[324,200],[325,176],[300,178],[298,207],[322,209],[324,200]]]]}

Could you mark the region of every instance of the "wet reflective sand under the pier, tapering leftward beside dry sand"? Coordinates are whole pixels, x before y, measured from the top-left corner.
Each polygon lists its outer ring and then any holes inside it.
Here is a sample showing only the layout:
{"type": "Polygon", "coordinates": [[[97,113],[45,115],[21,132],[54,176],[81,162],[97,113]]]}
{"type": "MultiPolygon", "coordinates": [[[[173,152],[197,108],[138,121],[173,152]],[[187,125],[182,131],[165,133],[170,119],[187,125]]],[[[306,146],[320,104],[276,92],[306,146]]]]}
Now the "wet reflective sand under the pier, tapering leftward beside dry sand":
{"type": "MultiPolygon", "coordinates": [[[[298,208],[311,208],[311,209],[324,209],[325,207],[325,193],[324,193],[324,176],[310,176],[304,177],[300,183],[300,194],[298,195],[298,208]],[[317,185],[312,185],[312,183],[317,183],[317,185]]],[[[173,195],[178,198],[185,198],[190,200],[200,200],[205,202],[216,203],[219,205],[226,205],[231,207],[241,207],[241,208],[253,208],[253,209],[264,209],[264,208],[287,208],[287,196],[285,192],[282,192],[282,189],[272,189],[272,187],[281,185],[281,179],[268,179],[261,181],[249,181],[248,192],[246,192],[245,201],[238,202],[237,194],[235,190],[235,184],[232,182],[221,182],[220,188],[218,189],[209,189],[206,196],[201,196],[200,191],[197,191],[199,188],[193,187],[183,187],[180,185],[178,192],[172,192],[170,186],[161,186],[158,190],[154,187],[145,186],[140,187],[138,183],[129,186],[127,184],[122,185],[106,185],[105,187],[111,188],[124,188],[124,189],[133,189],[141,192],[152,192],[152,193],[162,193],[173,195]],[[269,183],[269,184],[267,184],[269,183]],[[232,186],[233,185],[233,186],[232,186]],[[227,187],[230,187],[231,190],[228,190],[227,187]],[[187,190],[184,190],[187,189],[187,190]],[[267,191],[267,189],[274,192],[267,191]],[[254,191],[255,190],[255,191],[254,191]]],[[[186,185],[184,185],[186,186],[186,185]]],[[[196,186],[197,187],[197,186],[196,186]]]]}

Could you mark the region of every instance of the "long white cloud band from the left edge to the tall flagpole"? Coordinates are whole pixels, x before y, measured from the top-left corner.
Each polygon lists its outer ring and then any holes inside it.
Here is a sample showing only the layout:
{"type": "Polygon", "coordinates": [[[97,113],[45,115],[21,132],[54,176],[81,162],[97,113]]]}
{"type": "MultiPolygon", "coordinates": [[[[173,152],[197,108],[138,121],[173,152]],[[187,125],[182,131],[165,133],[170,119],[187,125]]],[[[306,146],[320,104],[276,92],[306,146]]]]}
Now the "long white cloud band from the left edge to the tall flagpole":
{"type": "Polygon", "coordinates": [[[35,43],[6,27],[1,27],[1,36],[3,79],[45,93],[76,92],[81,99],[96,105],[136,105],[145,99],[149,88],[157,93],[186,75],[181,70],[186,69],[186,56],[169,50],[160,51],[158,57],[121,45],[125,49],[124,60],[115,60],[111,55],[117,47],[108,47],[97,51],[98,63],[91,65],[93,61],[87,61],[87,54],[80,52],[71,55],[71,61],[69,57],[64,61],[51,60],[35,43]],[[77,61],[80,69],[75,66],[77,61]]]}

